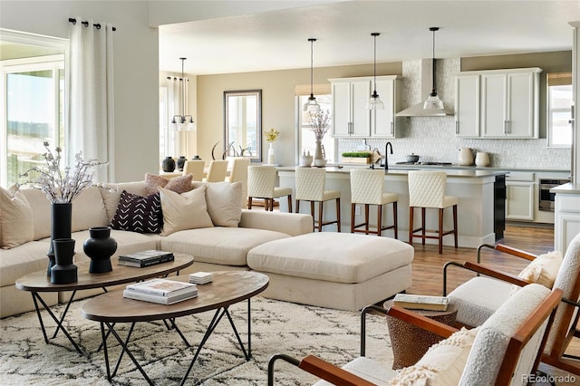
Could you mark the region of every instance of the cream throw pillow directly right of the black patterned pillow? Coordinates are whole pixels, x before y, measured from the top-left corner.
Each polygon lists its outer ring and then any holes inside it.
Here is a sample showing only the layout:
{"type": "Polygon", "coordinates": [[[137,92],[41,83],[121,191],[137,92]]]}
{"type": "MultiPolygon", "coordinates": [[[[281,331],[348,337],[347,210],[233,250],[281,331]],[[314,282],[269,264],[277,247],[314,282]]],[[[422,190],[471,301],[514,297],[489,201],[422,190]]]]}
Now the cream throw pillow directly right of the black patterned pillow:
{"type": "Polygon", "coordinates": [[[182,194],[160,188],[160,198],[163,212],[161,236],[184,229],[214,226],[208,214],[205,186],[182,194]]]}

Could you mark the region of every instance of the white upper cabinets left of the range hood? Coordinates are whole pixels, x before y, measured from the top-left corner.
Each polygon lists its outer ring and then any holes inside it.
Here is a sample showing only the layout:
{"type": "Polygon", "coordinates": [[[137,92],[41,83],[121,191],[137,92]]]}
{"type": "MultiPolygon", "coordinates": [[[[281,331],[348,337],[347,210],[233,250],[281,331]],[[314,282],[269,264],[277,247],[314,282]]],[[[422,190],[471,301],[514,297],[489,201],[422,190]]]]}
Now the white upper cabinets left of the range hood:
{"type": "Polygon", "coordinates": [[[333,137],[395,138],[401,110],[401,77],[377,76],[377,93],[384,110],[369,111],[373,78],[331,79],[333,90],[333,137]]]}

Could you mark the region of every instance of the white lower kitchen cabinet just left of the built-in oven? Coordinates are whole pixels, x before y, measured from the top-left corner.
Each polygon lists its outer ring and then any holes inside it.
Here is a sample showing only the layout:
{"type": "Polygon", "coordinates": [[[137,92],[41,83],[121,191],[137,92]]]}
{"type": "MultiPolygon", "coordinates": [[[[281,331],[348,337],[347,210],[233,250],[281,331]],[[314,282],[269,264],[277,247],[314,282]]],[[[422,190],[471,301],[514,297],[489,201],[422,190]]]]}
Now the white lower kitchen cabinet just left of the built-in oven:
{"type": "Polygon", "coordinates": [[[533,221],[536,203],[534,173],[510,172],[506,191],[506,219],[533,221]]]}

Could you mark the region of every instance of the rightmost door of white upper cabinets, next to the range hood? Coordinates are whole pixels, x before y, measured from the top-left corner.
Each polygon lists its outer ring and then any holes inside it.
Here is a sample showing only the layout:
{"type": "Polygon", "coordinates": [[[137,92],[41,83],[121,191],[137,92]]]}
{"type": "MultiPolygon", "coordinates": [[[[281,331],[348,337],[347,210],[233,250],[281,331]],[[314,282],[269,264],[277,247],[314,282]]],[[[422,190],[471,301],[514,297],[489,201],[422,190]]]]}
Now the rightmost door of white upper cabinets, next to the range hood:
{"type": "Polygon", "coordinates": [[[377,77],[377,93],[384,104],[383,110],[371,111],[371,137],[400,137],[402,117],[395,113],[402,110],[402,78],[399,76],[377,77]]]}

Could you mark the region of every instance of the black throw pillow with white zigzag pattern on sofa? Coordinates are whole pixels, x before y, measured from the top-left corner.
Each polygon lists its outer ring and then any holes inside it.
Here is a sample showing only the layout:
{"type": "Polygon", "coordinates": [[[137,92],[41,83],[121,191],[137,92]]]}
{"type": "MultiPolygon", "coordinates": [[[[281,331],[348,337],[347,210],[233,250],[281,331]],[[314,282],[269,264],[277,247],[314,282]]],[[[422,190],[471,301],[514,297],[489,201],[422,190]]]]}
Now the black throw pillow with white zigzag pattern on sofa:
{"type": "Polygon", "coordinates": [[[160,233],[161,221],[159,193],[142,197],[123,190],[111,227],[139,233],[160,233]]]}

